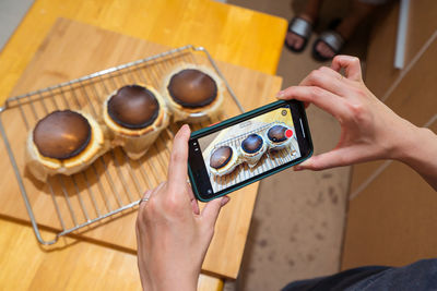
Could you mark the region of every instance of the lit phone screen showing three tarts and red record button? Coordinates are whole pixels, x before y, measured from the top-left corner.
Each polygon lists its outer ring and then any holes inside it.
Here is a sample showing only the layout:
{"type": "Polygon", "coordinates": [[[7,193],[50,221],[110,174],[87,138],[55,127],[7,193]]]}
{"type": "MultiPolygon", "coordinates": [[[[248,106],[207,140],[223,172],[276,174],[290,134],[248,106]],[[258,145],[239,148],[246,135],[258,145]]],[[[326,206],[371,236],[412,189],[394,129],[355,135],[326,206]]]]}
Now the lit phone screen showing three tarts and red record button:
{"type": "Polygon", "coordinates": [[[288,106],[198,141],[215,193],[300,157],[288,106]]]}

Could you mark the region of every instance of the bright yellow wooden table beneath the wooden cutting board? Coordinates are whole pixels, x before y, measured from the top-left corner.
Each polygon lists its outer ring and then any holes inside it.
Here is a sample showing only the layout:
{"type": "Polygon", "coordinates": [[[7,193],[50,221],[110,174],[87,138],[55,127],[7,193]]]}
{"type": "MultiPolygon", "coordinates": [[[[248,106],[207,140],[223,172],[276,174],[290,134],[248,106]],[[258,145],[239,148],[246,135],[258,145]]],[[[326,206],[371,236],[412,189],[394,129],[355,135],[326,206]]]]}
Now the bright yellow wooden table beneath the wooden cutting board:
{"type": "MultiPolygon", "coordinates": [[[[62,4],[36,1],[0,54],[0,96],[7,96],[15,85],[57,16],[68,16],[174,47],[202,45],[218,60],[268,73],[275,70],[286,27],[283,20],[210,1],[143,1],[141,4],[123,1],[122,5],[117,1],[99,2],[103,1],[63,1],[62,4]],[[149,13],[144,16],[142,11],[149,13]],[[205,15],[211,22],[204,21],[205,15]]],[[[249,105],[255,107],[257,104],[249,105]]],[[[64,239],[58,245],[59,252],[44,252],[44,247],[36,244],[32,229],[17,222],[0,220],[0,263],[7,266],[0,275],[1,286],[10,289],[97,290],[139,287],[135,256],[122,252],[126,250],[104,247],[102,243],[86,240],[62,250],[62,245],[70,244],[72,240],[64,239]],[[93,264],[92,268],[90,264],[93,264]]],[[[221,286],[220,279],[201,276],[200,289],[217,290],[221,286]]]]}

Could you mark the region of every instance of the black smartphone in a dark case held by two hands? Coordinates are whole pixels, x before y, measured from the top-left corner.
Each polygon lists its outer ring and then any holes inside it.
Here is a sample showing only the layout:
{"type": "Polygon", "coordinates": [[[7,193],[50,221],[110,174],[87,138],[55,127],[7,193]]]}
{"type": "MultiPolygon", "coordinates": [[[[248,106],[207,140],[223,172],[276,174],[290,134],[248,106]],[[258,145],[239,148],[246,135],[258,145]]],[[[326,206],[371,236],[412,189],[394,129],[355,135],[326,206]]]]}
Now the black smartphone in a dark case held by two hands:
{"type": "Polygon", "coordinates": [[[304,105],[280,100],[191,133],[188,175],[208,202],[312,155],[304,105]]]}

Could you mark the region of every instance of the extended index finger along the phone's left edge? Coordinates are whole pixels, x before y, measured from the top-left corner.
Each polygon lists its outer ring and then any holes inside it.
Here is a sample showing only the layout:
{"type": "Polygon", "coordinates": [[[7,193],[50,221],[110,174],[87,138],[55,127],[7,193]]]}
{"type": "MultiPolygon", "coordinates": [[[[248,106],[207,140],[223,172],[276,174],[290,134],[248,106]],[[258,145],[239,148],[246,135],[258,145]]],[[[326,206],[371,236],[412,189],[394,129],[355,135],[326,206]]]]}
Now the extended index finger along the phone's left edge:
{"type": "Polygon", "coordinates": [[[168,165],[168,184],[176,189],[187,183],[188,140],[190,128],[185,124],[177,132],[173,142],[172,157],[168,165]]]}

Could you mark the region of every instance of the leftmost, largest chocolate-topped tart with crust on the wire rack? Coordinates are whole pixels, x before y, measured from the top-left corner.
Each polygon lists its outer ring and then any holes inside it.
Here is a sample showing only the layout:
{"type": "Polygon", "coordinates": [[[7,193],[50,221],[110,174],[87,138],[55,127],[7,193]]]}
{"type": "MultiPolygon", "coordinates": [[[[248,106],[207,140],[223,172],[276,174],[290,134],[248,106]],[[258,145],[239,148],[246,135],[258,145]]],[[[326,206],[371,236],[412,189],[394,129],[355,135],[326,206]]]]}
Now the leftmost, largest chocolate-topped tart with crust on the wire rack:
{"type": "Polygon", "coordinates": [[[57,173],[73,174],[108,148],[97,121],[84,112],[54,111],[28,133],[26,166],[38,180],[57,173]]]}

